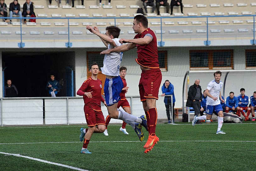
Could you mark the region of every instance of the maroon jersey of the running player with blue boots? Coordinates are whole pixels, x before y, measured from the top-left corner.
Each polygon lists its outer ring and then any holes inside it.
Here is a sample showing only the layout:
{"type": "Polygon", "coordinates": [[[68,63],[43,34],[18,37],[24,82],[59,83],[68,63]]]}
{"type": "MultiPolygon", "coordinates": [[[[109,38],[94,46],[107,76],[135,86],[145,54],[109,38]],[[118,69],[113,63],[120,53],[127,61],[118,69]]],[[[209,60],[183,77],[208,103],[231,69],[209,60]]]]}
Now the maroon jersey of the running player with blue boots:
{"type": "Polygon", "coordinates": [[[77,95],[83,96],[84,103],[94,110],[101,110],[100,102],[104,102],[103,97],[101,96],[102,89],[102,80],[98,79],[93,80],[92,77],[85,80],[82,86],[77,91],[77,95]],[[88,98],[84,95],[85,92],[92,91],[92,98],[88,98]]]}

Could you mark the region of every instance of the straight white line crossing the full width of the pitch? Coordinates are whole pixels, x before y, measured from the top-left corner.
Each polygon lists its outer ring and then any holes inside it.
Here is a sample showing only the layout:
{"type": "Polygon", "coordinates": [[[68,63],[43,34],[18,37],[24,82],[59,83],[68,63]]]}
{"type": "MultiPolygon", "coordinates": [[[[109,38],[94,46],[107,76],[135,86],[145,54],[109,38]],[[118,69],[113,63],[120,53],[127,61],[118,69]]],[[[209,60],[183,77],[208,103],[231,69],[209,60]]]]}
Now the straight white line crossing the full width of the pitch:
{"type": "MultiPolygon", "coordinates": [[[[90,143],[101,142],[141,142],[141,141],[90,141],[90,143]]],[[[180,141],[161,141],[161,142],[256,142],[256,141],[217,141],[217,140],[180,140],[180,141]]],[[[55,143],[81,143],[77,142],[21,142],[21,143],[0,143],[0,145],[12,145],[12,144],[55,144],[55,143]]]]}

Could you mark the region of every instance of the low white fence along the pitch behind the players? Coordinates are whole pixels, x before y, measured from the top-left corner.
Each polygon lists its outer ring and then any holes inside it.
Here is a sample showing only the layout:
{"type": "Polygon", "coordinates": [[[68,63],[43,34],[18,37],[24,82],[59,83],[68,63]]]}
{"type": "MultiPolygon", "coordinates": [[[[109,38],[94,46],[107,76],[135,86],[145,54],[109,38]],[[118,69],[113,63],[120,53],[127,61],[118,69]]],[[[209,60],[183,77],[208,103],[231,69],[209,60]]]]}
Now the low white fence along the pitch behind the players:
{"type": "MultiPolygon", "coordinates": [[[[126,97],[131,105],[131,114],[141,116],[144,113],[139,96],[126,97]]],[[[166,119],[164,97],[156,102],[158,119],[166,119]]],[[[5,125],[51,125],[51,124],[86,124],[82,97],[24,97],[1,98],[0,121],[5,125]]],[[[102,103],[102,112],[106,118],[107,108],[102,103]]],[[[122,123],[111,119],[110,123],[122,123]]]]}

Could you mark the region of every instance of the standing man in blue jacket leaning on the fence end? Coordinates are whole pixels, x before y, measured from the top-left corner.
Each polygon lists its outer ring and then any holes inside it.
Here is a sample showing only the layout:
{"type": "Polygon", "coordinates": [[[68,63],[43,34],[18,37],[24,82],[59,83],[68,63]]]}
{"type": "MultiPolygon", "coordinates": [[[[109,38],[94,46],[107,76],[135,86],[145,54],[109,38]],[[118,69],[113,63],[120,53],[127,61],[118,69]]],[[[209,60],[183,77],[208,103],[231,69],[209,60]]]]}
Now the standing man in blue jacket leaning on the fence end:
{"type": "Polygon", "coordinates": [[[175,96],[174,96],[174,86],[170,83],[169,80],[165,80],[164,85],[162,86],[162,97],[164,96],[164,104],[166,108],[166,114],[168,123],[171,123],[170,118],[170,108],[171,108],[171,97],[165,95],[172,95],[172,120],[174,122],[174,105],[175,105],[175,96]]]}

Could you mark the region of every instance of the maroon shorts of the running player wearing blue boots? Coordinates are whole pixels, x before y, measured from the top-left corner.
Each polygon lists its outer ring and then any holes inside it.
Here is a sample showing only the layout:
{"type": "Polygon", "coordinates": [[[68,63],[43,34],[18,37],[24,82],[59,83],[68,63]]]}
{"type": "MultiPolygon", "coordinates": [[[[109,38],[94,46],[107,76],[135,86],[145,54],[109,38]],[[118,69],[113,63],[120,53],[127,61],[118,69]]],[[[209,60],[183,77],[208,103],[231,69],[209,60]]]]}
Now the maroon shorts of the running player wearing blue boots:
{"type": "Polygon", "coordinates": [[[84,112],[88,126],[105,125],[105,118],[101,110],[94,110],[84,105],[84,112]]]}

